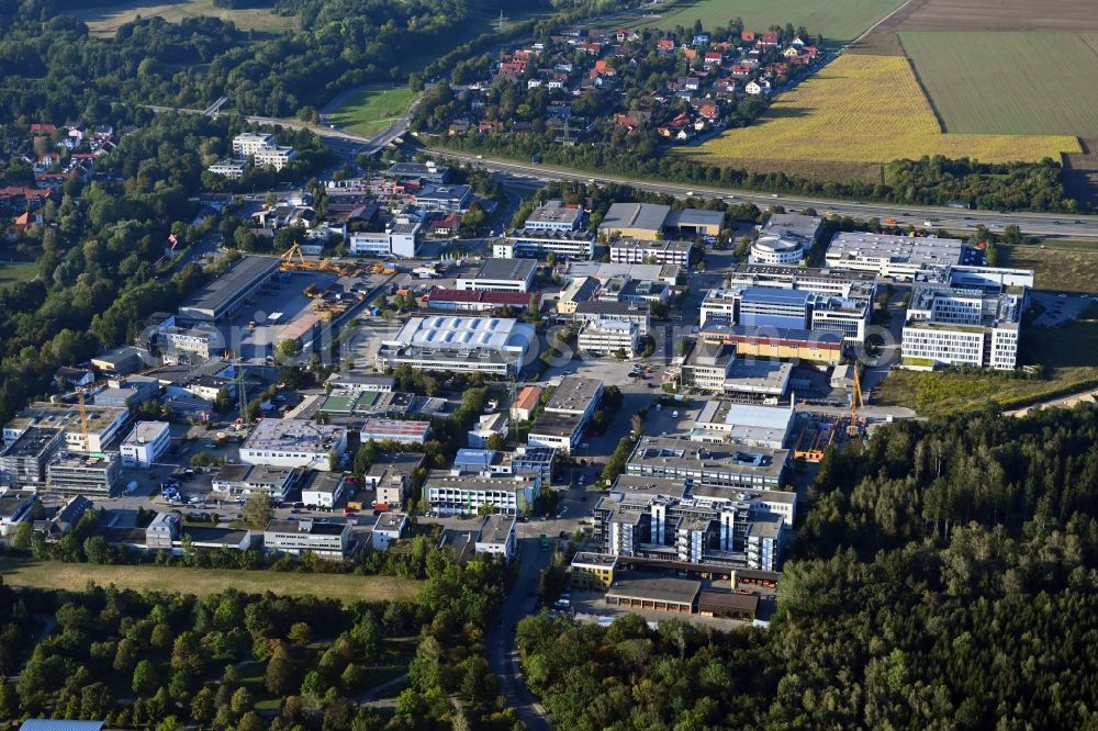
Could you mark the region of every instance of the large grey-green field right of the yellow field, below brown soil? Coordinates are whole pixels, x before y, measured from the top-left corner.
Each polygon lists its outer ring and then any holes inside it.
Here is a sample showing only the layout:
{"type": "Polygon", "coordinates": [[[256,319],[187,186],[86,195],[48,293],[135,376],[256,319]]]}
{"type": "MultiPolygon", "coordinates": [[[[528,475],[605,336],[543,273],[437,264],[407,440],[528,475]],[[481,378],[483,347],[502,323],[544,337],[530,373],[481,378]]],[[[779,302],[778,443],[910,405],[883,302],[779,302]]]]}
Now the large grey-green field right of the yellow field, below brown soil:
{"type": "Polygon", "coordinates": [[[1098,33],[899,38],[948,132],[1098,136],[1098,33]]]}

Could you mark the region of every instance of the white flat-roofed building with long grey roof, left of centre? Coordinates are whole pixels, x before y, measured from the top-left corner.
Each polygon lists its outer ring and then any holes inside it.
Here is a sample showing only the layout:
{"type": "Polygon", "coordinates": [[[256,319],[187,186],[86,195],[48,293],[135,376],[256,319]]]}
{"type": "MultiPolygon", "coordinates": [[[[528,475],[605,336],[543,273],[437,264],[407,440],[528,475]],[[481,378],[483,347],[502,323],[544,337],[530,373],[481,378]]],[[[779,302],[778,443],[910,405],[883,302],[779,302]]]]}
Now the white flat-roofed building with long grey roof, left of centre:
{"type": "Polygon", "coordinates": [[[328,456],[346,451],[347,427],[309,419],[261,419],[240,446],[240,461],[328,471],[328,456]]]}

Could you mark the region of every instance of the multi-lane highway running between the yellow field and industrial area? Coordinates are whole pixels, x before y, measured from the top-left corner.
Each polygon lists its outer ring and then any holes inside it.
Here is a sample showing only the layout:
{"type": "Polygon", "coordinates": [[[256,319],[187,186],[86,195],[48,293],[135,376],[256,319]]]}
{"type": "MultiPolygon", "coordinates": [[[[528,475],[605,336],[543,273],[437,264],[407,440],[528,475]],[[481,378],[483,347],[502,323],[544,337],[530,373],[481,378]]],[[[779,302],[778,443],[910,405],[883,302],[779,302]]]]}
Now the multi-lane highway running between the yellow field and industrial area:
{"type": "Polygon", "coordinates": [[[579,182],[606,182],[631,185],[639,190],[653,193],[664,193],[675,198],[721,199],[730,203],[754,203],[761,209],[780,205],[785,209],[816,209],[821,214],[832,213],[858,218],[896,218],[897,224],[911,224],[919,228],[925,222],[931,221],[933,228],[944,228],[950,232],[974,232],[983,224],[991,230],[1002,230],[1004,226],[1017,225],[1029,236],[1064,239],[1098,239],[1098,216],[1055,213],[1001,213],[999,211],[967,211],[963,209],[937,207],[928,205],[899,205],[892,203],[862,203],[852,201],[833,201],[818,198],[803,198],[783,193],[760,193],[757,191],[730,188],[712,188],[687,183],[658,182],[652,180],[634,180],[617,176],[593,173],[584,170],[572,170],[547,165],[516,162],[500,158],[480,157],[478,155],[458,153],[445,148],[428,147],[428,151],[452,160],[468,162],[493,170],[506,172],[515,177],[527,177],[537,180],[574,180],[579,182]]]}

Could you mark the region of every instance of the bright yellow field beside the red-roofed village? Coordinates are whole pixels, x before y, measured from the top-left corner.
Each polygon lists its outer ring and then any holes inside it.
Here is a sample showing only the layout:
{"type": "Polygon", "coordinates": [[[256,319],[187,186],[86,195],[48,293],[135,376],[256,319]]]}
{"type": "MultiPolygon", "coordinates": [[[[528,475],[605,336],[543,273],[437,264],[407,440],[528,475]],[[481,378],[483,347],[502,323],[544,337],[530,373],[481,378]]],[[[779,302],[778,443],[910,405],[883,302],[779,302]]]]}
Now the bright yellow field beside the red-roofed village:
{"type": "Polygon", "coordinates": [[[1071,136],[945,134],[906,58],[842,54],[781,94],[754,125],[682,154],[712,164],[888,162],[923,155],[1010,162],[1058,159],[1079,149],[1071,136]]]}

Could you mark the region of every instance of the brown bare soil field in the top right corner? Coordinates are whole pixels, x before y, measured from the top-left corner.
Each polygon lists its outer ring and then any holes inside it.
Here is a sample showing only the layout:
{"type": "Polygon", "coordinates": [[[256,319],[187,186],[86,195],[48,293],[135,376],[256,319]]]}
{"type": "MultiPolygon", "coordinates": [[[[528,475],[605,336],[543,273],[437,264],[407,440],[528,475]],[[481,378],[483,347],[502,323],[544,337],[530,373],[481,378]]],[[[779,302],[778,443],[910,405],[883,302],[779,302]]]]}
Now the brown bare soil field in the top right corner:
{"type": "Polygon", "coordinates": [[[884,26],[904,31],[1096,31],[1094,0],[914,0],[884,26]]]}

